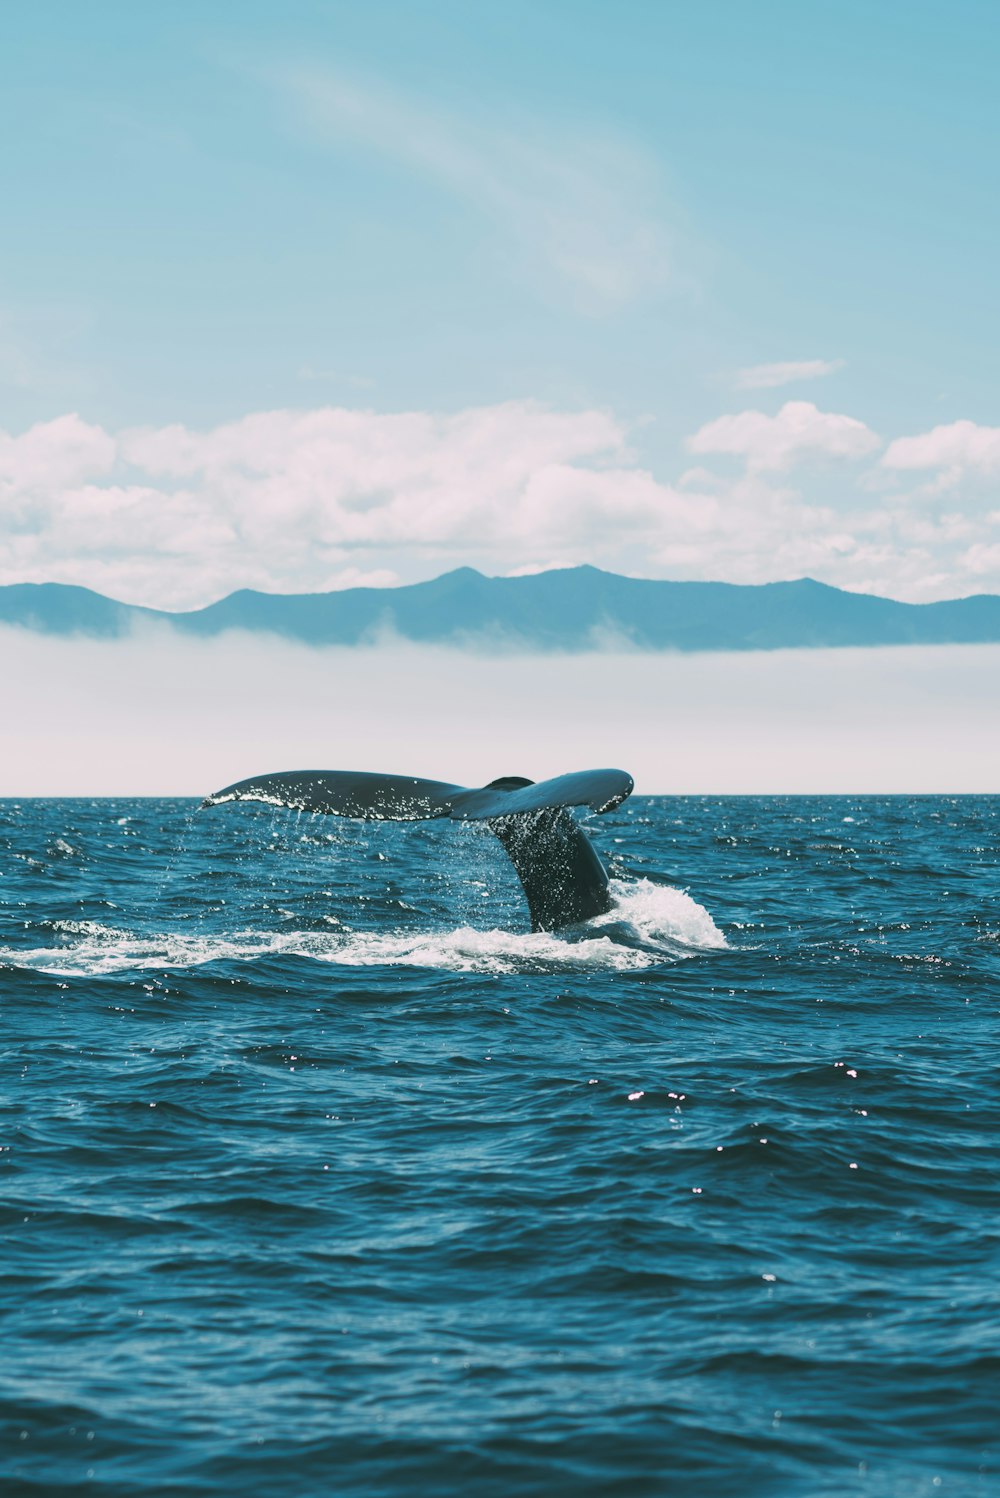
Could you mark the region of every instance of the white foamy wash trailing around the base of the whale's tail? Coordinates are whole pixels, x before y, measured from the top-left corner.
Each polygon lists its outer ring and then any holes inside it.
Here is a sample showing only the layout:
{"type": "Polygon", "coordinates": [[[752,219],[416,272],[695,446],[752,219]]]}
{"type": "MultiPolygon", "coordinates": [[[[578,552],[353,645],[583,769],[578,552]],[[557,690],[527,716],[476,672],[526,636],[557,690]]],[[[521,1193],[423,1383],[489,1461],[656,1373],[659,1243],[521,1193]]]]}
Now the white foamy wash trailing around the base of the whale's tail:
{"type": "Polygon", "coordinates": [[[210,962],[308,957],[347,968],[409,966],[448,972],[626,972],[726,947],[708,911],[684,890],[612,879],[614,906],[573,932],[475,930],[136,933],[99,921],[52,921],[60,947],[0,948],[0,963],[58,977],[102,977],[210,962]]]}

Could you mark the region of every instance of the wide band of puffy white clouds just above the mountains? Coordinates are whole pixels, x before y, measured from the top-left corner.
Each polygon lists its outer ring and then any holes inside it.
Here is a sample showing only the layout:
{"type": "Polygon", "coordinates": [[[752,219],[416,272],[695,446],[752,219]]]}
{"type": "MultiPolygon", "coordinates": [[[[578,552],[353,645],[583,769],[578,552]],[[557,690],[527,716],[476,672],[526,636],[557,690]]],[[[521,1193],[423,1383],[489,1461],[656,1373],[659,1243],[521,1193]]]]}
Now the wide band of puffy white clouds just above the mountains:
{"type": "Polygon", "coordinates": [[[386,584],[472,563],[762,583],[915,601],[1000,590],[1000,431],[882,440],[786,401],[695,431],[668,482],[606,410],[271,410],[208,431],[64,415],[0,431],[0,581],[198,607],[259,587],[386,584]]]}

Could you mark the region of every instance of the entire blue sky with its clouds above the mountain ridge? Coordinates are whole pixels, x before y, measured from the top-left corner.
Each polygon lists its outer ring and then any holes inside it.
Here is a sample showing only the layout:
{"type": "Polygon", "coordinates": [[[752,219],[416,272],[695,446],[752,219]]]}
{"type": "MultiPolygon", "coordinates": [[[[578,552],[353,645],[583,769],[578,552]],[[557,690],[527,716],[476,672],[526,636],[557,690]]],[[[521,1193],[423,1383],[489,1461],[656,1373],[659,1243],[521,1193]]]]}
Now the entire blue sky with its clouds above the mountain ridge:
{"type": "Polygon", "coordinates": [[[1000,590],[996,4],[37,0],[0,581],[1000,590]]]}

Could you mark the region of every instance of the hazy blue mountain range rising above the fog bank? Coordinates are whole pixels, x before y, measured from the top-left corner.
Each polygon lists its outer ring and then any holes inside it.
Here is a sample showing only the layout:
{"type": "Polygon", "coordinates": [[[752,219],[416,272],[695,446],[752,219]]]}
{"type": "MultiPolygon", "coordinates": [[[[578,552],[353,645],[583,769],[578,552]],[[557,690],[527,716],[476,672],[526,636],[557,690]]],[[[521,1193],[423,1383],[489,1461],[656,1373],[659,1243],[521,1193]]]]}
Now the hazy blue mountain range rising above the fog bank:
{"type": "Polygon", "coordinates": [[[1000,596],[900,604],[799,578],[672,583],[593,566],[484,577],[458,568],[430,583],[335,593],[243,589],[187,613],[120,604],[63,583],[0,587],[0,623],[48,635],[121,638],[168,623],[187,635],[241,629],[310,646],[380,638],[528,650],[778,650],[1000,641],[1000,596]]]}

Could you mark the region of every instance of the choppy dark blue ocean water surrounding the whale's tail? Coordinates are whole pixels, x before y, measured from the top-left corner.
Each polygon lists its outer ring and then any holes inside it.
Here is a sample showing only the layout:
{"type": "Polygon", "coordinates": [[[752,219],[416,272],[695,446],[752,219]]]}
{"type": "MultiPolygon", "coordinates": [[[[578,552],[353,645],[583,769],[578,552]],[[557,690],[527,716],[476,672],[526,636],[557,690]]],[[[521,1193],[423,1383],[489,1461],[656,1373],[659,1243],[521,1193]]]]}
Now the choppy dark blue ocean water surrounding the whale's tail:
{"type": "Polygon", "coordinates": [[[1000,1492],[1000,798],[0,803],[21,1494],[1000,1492]]]}

